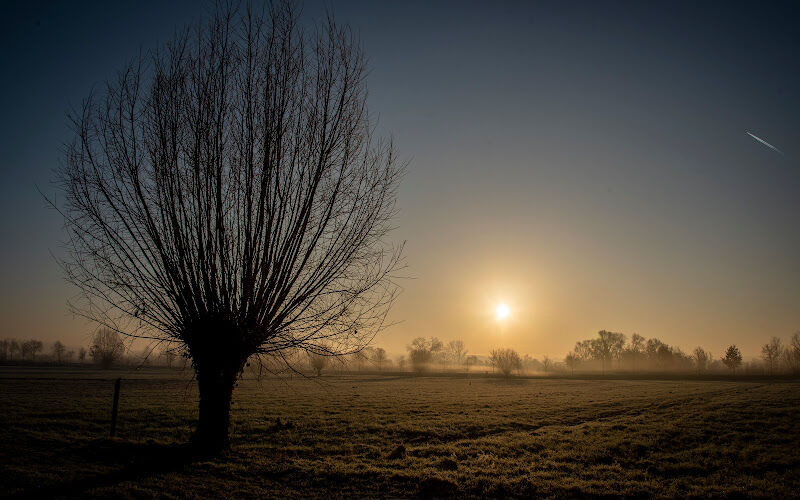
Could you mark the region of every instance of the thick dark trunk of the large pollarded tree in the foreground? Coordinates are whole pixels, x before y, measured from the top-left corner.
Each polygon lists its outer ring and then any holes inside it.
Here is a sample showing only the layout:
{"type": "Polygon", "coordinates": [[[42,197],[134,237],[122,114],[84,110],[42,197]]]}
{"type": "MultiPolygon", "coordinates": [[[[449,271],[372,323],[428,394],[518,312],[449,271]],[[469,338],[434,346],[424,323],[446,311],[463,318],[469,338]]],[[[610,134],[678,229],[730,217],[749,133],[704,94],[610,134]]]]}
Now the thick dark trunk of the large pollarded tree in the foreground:
{"type": "Polygon", "coordinates": [[[230,447],[231,397],[241,367],[220,364],[195,367],[200,392],[200,415],[193,443],[205,451],[230,447]]]}

